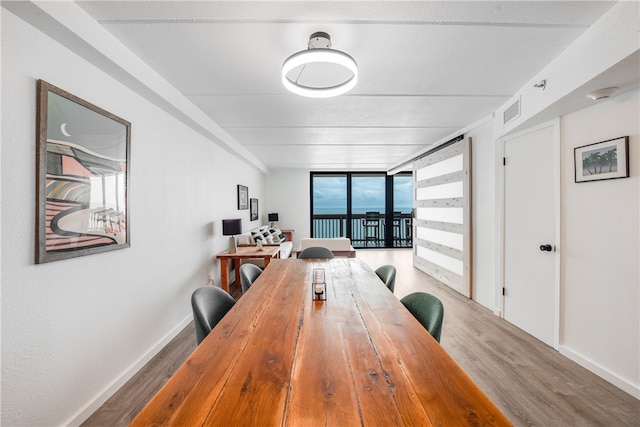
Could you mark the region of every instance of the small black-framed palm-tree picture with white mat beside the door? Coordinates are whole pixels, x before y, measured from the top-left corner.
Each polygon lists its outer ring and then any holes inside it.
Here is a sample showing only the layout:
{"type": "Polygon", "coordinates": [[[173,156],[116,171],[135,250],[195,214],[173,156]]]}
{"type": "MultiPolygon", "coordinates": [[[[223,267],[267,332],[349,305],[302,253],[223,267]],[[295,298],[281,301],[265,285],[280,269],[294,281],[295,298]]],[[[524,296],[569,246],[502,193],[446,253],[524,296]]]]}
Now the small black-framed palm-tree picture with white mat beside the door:
{"type": "Polygon", "coordinates": [[[629,137],[574,148],[576,182],[629,177],[629,137]]]}

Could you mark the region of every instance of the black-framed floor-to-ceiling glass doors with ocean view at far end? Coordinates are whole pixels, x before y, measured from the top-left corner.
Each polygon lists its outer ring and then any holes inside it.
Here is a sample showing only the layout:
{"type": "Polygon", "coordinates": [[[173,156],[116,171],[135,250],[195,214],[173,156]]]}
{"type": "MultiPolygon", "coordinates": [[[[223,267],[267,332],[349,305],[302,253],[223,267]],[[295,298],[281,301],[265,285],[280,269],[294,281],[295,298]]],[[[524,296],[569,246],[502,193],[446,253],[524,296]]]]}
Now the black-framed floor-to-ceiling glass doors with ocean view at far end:
{"type": "Polygon", "coordinates": [[[411,173],[312,172],[312,237],[349,237],[355,248],[412,247],[411,173]]]}

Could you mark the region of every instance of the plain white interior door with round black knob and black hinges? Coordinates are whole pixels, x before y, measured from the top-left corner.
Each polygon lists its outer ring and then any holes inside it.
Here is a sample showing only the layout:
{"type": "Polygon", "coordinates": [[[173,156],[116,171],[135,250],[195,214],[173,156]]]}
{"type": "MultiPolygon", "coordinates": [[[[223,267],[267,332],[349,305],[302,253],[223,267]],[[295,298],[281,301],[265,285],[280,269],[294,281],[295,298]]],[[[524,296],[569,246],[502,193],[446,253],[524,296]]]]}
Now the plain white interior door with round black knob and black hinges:
{"type": "Polygon", "coordinates": [[[504,141],[504,318],[557,347],[557,124],[504,141]]]}

